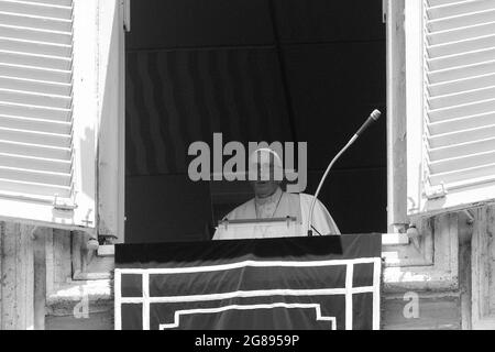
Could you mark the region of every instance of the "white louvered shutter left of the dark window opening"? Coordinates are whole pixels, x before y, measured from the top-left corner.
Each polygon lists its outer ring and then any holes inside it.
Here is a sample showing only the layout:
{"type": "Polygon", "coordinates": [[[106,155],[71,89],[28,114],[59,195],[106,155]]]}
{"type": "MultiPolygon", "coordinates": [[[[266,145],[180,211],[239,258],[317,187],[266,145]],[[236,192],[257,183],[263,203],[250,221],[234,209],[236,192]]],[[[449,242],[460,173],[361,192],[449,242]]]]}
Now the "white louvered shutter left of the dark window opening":
{"type": "Polygon", "coordinates": [[[96,3],[0,0],[0,217],[94,228],[96,3]]]}

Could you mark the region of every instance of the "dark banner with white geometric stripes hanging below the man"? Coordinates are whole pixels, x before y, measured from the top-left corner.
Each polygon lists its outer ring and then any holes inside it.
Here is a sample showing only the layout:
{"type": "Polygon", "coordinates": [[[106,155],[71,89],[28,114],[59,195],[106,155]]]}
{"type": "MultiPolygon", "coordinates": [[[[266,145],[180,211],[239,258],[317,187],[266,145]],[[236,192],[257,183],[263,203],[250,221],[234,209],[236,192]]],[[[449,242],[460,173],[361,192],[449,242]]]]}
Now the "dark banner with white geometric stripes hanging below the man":
{"type": "Polygon", "coordinates": [[[381,234],[116,245],[116,329],[380,329],[381,252],[381,234]]]}

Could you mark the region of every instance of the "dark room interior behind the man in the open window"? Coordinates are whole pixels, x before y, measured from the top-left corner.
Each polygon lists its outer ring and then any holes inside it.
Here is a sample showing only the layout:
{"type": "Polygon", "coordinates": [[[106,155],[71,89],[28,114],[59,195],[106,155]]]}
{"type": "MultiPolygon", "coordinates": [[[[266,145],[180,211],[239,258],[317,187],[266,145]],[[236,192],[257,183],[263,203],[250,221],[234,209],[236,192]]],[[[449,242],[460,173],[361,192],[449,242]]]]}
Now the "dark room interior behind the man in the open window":
{"type": "MultiPolygon", "coordinates": [[[[211,143],[213,132],[224,143],[306,141],[312,194],[367,114],[386,112],[381,0],[131,3],[127,242],[205,239],[250,197],[190,182],[191,142],[211,143]]],[[[342,233],[386,231],[384,119],[336,165],[320,199],[342,233]]]]}

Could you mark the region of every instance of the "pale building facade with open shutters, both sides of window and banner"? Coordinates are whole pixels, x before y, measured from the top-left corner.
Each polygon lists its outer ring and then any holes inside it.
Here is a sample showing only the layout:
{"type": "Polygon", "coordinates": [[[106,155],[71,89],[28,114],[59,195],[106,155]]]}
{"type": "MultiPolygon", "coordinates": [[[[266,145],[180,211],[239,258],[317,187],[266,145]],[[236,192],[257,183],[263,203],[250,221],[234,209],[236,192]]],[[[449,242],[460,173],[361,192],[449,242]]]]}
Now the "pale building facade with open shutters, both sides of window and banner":
{"type": "MultiPolygon", "coordinates": [[[[384,2],[383,329],[495,328],[495,1],[384,2]]],[[[124,0],[0,0],[0,327],[112,329],[124,0]]]]}

